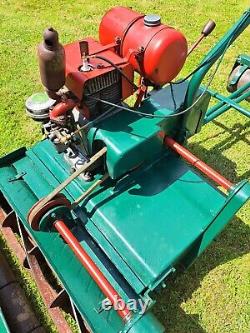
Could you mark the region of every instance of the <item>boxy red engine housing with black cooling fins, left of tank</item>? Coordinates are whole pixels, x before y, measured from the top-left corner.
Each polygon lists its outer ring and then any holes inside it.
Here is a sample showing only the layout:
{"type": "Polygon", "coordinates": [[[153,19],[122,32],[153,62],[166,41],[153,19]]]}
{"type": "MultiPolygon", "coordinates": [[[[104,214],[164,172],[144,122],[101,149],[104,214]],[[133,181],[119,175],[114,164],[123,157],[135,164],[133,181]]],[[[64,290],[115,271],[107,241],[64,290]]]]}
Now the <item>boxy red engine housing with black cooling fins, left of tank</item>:
{"type": "Polygon", "coordinates": [[[104,60],[91,57],[91,55],[98,54],[112,61],[131,82],[134,80],[134,70],[126,59],[115,52],[114,45],[107,48],[93,38],[86,38],[83,41],[88,43],[89,64],[92,70],[88,72],[80,71],[83,63],[80,51],[81,41],[65,45],[65,85],[80,101],[79,110],[83,112],[87,119],[93,119],[104,110],[98,111],[96,102],[87,101],[88,96],[101,97],[109,102],[119,103],[131,96],[134,90],[132,84],[123,76],[120,76],[112,65],[104,60]]]}

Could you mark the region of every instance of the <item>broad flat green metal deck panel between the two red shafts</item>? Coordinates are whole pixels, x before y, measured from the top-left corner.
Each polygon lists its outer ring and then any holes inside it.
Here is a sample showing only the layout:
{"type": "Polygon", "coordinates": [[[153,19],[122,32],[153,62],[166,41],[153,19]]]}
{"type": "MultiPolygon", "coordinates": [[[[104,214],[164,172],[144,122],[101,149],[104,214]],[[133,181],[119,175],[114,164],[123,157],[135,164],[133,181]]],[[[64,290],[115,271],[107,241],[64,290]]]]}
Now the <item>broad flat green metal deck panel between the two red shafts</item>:
{"type": "MultiPolygon", "coordinates": [[[[225,203],[219,191],[172,154],[99,192],[86,205],[89,223],[149,288],[172,269],[225,203]]],[[[99,242],[97,233],[92,236],[99,242]]]]}

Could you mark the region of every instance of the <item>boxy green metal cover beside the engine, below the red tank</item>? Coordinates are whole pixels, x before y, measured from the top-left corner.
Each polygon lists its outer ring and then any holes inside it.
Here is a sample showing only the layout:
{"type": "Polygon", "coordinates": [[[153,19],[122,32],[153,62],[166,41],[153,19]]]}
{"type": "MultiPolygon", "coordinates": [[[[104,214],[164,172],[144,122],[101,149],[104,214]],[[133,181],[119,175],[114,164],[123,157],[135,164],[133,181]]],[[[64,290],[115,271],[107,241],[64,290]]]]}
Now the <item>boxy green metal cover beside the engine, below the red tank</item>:
{"type": "MultiPolygon", "coordinates": [[[[184,87],[186,89],[186,86],[184,87]]],[[[185,96],[181,87],[180,96],[185,96]]],[[[143,101],[138,111],[147,114],[166,116],[173,114],[174,107],[169,87],[155,92],[143,101]]],[[[181,103],[181,99],[177,99],[181,103]]],[[[146,118],[136,113],[120,111],[114,116],[98,123],[90,129],[88,142],[94,147],[96,141],[102,141],[108,148],[107,168],[109,175],[116,179],[139,164],[155,159],[162,152],[158,133],[164,130],[176,131],[180,128],[180,118],[146,118]]]]}

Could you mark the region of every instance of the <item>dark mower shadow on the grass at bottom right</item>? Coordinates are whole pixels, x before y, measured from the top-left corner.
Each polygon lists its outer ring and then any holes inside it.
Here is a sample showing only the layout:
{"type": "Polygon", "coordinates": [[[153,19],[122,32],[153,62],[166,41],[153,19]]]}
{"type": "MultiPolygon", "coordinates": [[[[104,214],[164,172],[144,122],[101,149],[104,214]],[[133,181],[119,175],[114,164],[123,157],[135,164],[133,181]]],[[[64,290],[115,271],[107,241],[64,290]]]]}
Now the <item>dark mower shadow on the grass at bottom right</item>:
{"type": "Polygon", "coordinates": [[[198,314],[186,314],[181,303],[192,297],[214,268],[249,253],[249,239],[250,227],[235,217],[187,271],[167,281],[167,287],[156,296],[154,313],[168,333],[206,332],[199,324],[198,314]]]}

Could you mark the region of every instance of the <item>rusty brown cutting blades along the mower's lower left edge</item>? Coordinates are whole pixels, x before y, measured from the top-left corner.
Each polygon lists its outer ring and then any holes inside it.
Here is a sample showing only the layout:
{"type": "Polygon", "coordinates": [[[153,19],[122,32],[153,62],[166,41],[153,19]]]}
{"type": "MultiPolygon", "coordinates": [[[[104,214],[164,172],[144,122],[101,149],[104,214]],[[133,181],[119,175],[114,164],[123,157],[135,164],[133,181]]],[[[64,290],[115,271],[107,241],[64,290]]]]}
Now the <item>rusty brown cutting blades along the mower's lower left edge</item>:
{"type": "MultiPolygon", "coordinates": [[[[41,269],[41,261],[43,260],[43,265],[46,263],[44,258],[42,257],[40,251],[35,246],[34,241],[30,239],[27,232],[25,230],[22,230],[22,234],[25,239],[25,245],[27,245],[27,254],[28,254],[28,260],[26,257],[25,249],[21,246],[21,244],[18,242],[14,231],[16,232],[18,230],[17,220],[15,213],[10,212],[9,214],[6,214],[5,211],[0,207],[0,230],[9,246],[9,248],[15,253],[17,256],[19,262],[21,265],[23,265],[26,262],[26,267],[28,266],[28,270],[31,274],[31,276],[35,279],[36,285],[42,295],[42,298],[44,300],[44,303],[47,306],[49,315],[51,319],[53,320],[58,333],[71,333],[71,329],[66,322],[60,308],[58,306],[51,306],[51,304],[54,304],[55,299],[57,298],[58,293],[53,289],[53,287],[49,284],[49,282],[46,280],[43,271],[41,269]],[[35,248],[35,250],[34,250],[35,248]],[[39,260],[40,259],[40,260],[39,260]],[[40,262],[39,262],[40,261],[40,262]],[[28,265],[27,265],[28,263],[28,265]]],[[[1,263],[0,263],[1,264],[1,263]]],[[[48,267],[48,270],[50,268],[48,267]]],[[[1,279],[4,281],[4,276],[0,276],[1,279]]],[[[15,291],[14,291],[15,292],[15,291]]],[[[2,295],[3,299],[8,297],[7,289],[6,293],[3,293],[2,295]]],[[[14,330],[14,332],[22,333],[25,331],[21,330],[14,330]]],[[[44,330],[41,330],[41,327],[33,327],[33,329],[30,329],[29,332],[34,333],[42,333],[44,330]]]]}

